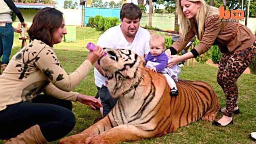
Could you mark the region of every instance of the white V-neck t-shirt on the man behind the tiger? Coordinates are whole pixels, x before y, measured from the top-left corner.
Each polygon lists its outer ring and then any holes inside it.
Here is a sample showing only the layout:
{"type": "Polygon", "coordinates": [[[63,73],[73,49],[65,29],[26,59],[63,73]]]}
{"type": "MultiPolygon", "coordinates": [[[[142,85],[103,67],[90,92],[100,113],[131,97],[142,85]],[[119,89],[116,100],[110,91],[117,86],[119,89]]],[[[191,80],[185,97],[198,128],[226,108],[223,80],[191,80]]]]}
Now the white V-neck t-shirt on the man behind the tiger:
{"type": "MultiPolygon", "coordinates": [[[[106,32],[100,36],[97,45],[102,48],[128,49],[136,52],[136,54],[142,57],[144,57],[144,54],[148,54],[150,52],[150,33],[148,30],[139,27],[133,42],[130,44],[124,38],[124,34],[122,33],[120,26],[121,24],[106,30],[106,32]]],[[[102,76],[96,68],[94,68],[94,78],[96,86],[100,88],[102,86],[106,86],[107,79],[102,76]]]]}

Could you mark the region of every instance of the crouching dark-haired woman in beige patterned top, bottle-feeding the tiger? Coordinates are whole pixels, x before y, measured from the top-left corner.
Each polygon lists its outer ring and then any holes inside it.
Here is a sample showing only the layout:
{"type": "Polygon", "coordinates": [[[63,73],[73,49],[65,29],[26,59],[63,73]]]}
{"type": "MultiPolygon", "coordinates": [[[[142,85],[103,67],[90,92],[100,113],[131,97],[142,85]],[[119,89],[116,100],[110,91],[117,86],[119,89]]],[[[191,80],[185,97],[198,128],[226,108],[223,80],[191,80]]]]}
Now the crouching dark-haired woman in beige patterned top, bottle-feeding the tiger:
{"type": "Polygon", "coordinates": [[[96,98],[71,90],[104,51],[97,46],[68,75],[52,48],[67,34],[62,15],[55,8],[41,9],[28,30],[32,42],[12,57],[0,76],[0,139],[10,139],[6,144],[44,144],[62,138],[76,122],[71,101],[94,109],[102,106],[96,98]]]}

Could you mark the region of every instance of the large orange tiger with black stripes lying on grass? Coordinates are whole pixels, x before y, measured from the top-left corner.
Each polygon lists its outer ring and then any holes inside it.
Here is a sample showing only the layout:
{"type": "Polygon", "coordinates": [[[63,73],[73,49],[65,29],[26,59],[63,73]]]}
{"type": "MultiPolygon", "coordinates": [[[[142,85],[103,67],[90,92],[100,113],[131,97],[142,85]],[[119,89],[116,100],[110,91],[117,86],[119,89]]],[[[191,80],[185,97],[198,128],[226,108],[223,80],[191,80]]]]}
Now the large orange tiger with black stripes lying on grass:
{"type": "Polygon", "coordinates": [[[217,95],[202,81],[178,80],[178,96],[170,96],[166,78],[144,67],[145,60],[126,49],[104,48],[98,63],[108,90],[118,102],[110,113],[60,144],[101,144],[136,141],[176,131],[199,119],[213,121],[220,109],[217,95]]]}

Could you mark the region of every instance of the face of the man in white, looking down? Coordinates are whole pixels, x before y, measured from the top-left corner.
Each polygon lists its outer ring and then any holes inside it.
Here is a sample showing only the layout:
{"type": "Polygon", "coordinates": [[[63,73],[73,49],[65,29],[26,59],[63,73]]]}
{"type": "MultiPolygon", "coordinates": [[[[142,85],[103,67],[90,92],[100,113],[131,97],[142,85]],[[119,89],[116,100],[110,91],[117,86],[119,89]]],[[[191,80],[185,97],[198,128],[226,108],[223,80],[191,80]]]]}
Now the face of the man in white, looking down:
{"type": "Polygon", "coordinates": [[[140,18],[130,20],[128,18],[124,18],[121,20],[121,29],[124,34],[130,37],[134,37],[140,27],[140,18]]]}

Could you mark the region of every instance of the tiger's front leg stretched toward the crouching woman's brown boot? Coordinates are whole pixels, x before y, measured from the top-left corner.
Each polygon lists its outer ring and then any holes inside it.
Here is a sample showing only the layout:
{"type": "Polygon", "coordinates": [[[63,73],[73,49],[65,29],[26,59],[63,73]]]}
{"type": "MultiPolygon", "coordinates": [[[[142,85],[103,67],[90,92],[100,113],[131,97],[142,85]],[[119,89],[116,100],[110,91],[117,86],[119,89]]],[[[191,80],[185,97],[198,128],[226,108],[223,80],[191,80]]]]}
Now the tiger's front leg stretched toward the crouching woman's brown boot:
{"type": "Polygon", "coordinates": [[[90,141],[90,138],[93,138],[110,128],[112,127],[109,118],[106,116],[83,132],[62,138],[59,144],[85,144],[86,141],[90,141]]]}

